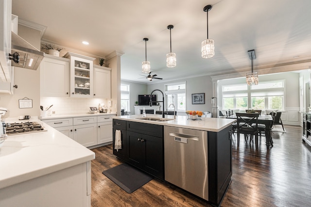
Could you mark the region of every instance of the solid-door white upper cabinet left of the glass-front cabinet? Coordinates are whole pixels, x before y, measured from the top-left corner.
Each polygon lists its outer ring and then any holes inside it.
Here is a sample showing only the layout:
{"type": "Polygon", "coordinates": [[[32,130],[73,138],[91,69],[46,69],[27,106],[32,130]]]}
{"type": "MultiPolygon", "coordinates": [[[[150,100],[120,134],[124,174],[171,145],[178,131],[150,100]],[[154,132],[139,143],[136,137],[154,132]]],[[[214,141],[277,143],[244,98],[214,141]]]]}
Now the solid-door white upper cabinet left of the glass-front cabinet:
{"type": "Polygon", "coordinates": [[[40,64],[40,95],[69,97],[69,59],[46,54],[40,64]]]}

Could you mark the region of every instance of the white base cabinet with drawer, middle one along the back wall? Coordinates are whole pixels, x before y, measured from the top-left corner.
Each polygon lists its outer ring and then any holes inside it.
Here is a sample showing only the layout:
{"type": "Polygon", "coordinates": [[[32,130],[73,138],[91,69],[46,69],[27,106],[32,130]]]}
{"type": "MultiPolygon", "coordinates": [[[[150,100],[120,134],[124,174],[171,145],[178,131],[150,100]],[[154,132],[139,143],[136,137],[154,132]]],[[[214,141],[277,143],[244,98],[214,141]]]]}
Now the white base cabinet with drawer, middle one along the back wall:
{"type": "Polygon", "coordinates": [[[86,147],[97,144],[96,116],[73,118],[73,140],[86,147]]]}

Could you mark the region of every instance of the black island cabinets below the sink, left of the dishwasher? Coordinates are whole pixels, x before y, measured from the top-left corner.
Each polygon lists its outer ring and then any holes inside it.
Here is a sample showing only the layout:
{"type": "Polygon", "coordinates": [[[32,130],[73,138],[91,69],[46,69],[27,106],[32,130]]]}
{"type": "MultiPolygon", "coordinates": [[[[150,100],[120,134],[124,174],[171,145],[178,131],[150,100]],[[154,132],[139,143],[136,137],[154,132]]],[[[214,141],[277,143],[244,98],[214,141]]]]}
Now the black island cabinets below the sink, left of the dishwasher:
{"type": "Polygon", "coordinates": [[[163,126],[113,120],[113,154],[139,169],[164,179],[163,126]],[[121,130],[121,148],[115,149],[115,131],[121,130]]]}

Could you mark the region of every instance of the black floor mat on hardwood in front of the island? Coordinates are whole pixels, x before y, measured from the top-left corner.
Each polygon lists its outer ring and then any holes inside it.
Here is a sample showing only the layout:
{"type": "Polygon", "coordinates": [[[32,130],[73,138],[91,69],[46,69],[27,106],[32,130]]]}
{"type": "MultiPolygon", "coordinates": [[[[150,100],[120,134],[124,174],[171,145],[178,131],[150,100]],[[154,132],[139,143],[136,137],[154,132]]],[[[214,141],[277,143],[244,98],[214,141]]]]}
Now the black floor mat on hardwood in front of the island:
{"type": "Polygon", "coordinates": [[[103,171],[103,174],[127,193],[136,191],[154,178],[126,163],[105,170],[103,171]]]}

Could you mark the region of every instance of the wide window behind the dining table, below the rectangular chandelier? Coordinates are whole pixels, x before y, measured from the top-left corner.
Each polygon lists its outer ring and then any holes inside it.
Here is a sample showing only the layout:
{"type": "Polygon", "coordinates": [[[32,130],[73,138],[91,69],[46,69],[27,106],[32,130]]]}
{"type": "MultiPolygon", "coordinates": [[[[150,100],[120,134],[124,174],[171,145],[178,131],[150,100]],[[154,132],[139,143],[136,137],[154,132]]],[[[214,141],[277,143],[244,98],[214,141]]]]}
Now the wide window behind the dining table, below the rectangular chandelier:
{"type": "Polygon", "coordinates": [[[285,80],[260,82],[258,85],[224,85],[223,109],[278,109],[284,110],[285,80]]]}

